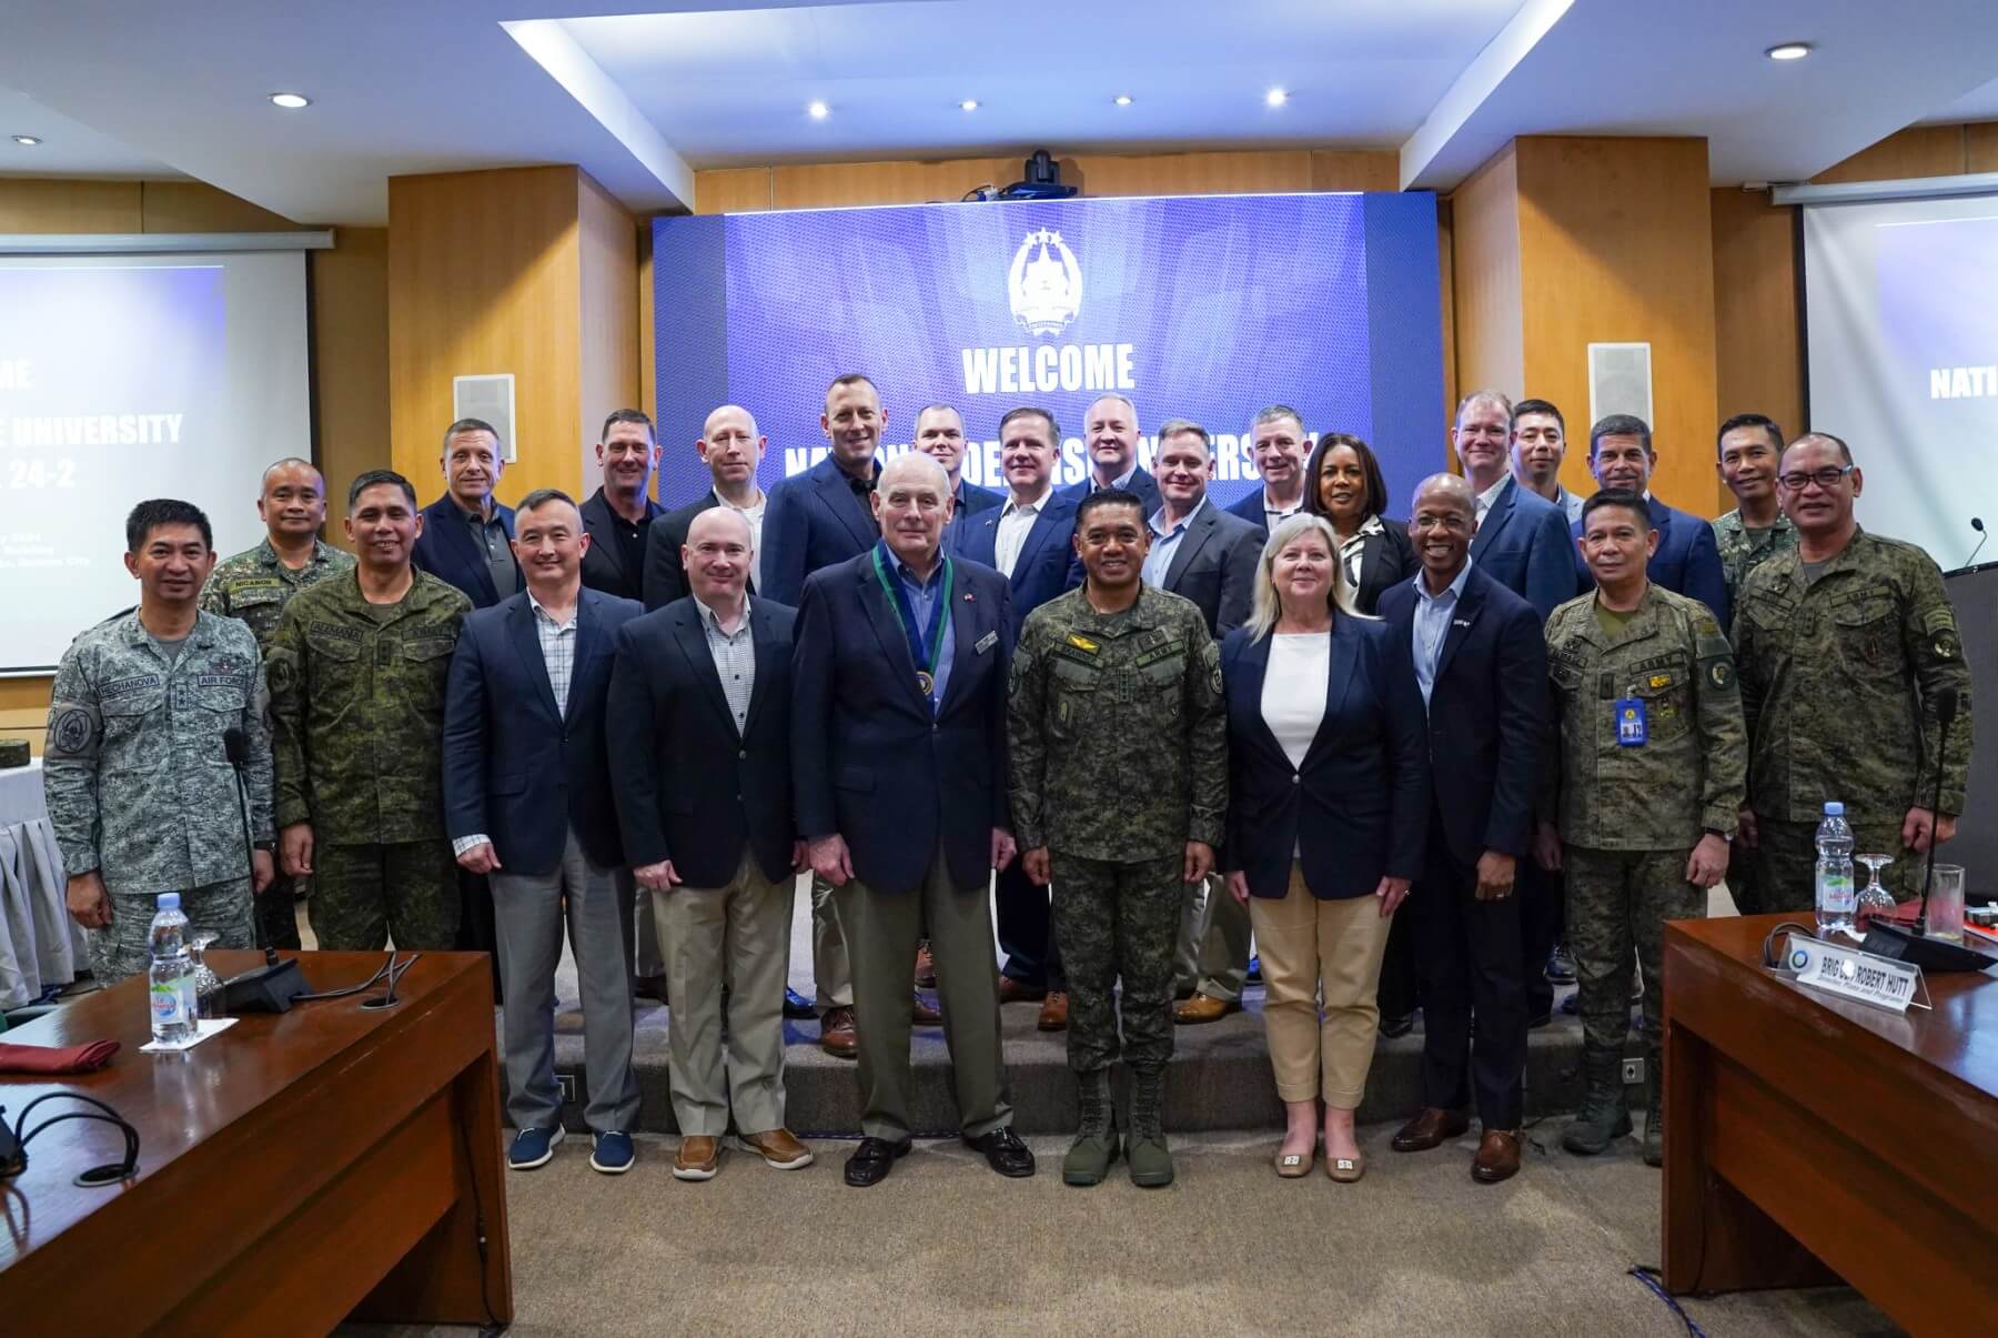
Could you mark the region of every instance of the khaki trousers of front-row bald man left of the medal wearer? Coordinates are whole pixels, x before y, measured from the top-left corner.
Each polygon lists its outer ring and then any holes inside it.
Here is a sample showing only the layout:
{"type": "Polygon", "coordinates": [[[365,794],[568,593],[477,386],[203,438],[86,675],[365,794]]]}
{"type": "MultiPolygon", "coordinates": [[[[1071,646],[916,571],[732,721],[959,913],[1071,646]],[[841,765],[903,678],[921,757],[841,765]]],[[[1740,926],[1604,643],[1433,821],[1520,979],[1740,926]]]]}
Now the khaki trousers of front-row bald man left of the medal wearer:
{"type": "Polygon", "coordinates": [[[783,982],[795,888],[791,874],[765,878],[743,850],[727,886],[649,894],[673,1000],[669,1082],[681,1134],[721,1138],[731,1110],[737,1132],[783,1128],[783,982]]]}

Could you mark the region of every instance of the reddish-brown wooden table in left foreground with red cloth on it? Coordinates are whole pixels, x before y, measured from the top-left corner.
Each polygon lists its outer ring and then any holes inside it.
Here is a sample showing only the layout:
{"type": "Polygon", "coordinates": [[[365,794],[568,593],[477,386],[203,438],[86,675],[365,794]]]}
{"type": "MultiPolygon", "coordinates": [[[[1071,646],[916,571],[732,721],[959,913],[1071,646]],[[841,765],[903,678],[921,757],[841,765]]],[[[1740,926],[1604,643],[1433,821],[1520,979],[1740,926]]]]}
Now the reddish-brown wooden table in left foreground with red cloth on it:
{"type": "MultiPolygon", "coordinates": [[[[316,990],[366,980],[380,952],[298,954],[316,990]]],[[[228,976],[260,960],[212,952],[228,976]]],[[[0,1182],[0,1330],[10,1334],[324,1334],[340,1320],[513,1318],[492,968],[426,952],[402,1004],[362,998],[246,1016],[184,1054],[140,1054],[144,976],[8,1042],[120,1040],[110,1068],[0,1076],[8,1122],[44,1092],[84,1092],[140,1132],[138,1174],[76,1188],[124,1154],[72,1120],[0,1182]],[[482,1244],[484,1242],[484,1244],[482,1244]]],[[[80,1102],[48,1102],[28,1120],[80,1102]]]]}

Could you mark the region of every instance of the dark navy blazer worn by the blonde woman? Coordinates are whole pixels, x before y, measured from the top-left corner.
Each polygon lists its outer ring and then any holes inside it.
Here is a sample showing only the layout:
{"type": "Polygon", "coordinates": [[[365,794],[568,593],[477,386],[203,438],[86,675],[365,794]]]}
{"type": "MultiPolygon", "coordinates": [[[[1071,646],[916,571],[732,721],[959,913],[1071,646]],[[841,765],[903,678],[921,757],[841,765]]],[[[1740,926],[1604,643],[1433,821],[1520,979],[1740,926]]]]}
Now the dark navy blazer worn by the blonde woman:
{"type": "Polygon", "coordinates": [[[1249,876],[1251,896],[1291,888],[1293,850],[1305,886],[1329,898],[1367,896],[1387,876],[1423,872],[1429,822],[1429,740],[1407,642],[1385,622],[1333,618],[1325,720],[1293,768],[1263,724],[1269,636],[1239,628],[1221,644],[1229,704],[1229,844],[1223,864],[1249,876]]]}

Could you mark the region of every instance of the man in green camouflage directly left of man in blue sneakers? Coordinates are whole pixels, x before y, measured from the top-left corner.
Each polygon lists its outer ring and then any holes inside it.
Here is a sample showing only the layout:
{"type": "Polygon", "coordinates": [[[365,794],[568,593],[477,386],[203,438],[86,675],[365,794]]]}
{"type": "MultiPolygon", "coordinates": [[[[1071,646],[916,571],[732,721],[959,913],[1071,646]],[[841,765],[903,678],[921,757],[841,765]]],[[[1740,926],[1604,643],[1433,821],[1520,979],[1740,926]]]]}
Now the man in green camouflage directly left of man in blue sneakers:
{"type": "Polygon", "coordinates": [[[450,948],[444,686],[472,600],[410,566],[424,520],[402,474],[356,478],[346,524],[360,564],[300,590],[270,648],[284,868],[314,876],[320,948],[450,948]]]}

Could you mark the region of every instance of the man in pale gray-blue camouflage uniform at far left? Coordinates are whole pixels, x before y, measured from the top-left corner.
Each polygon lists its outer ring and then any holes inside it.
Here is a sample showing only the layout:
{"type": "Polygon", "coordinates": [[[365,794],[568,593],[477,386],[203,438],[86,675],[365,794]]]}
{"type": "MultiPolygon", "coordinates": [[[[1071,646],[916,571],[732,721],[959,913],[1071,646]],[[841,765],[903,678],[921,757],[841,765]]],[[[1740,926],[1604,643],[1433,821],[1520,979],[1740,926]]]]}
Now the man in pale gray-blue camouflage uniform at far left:
{"type": "Polygon", "coordinates": [[[188,922],[224,948],[250,948],[252,900],[272,878],[264,672],[248,628],[198,606],[212,544],[208,516],[188,502],[134,506],[126,568],[138,608],[78,636],[56,670],[42,788],[70,914],[98,930],[90,970],[106,986],[146,970],[160,892],[180,892],[188,922]],[[250,744],[254,850],[228,730],[250,744]]]}

